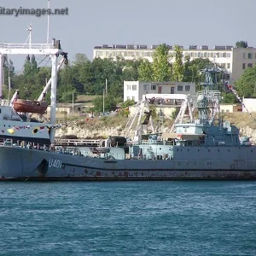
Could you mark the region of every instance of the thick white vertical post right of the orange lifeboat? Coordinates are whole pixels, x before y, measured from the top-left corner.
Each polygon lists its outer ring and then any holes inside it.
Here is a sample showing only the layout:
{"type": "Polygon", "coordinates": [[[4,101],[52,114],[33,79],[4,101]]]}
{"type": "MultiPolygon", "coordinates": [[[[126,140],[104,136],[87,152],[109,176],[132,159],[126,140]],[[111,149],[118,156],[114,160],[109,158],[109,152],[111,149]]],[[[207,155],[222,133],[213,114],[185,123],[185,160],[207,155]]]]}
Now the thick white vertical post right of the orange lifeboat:
{"type": "MultiPolygon", "coordinates": [[[[51,94],[50,94],[50,124],[55,125],[55,108],[56,108],[56,92],[57,92],[57,56],[50,56],[51,64],[51,94]]],[[[55,128],[50,129],[50,143],[55,142],[55,128]]]]}

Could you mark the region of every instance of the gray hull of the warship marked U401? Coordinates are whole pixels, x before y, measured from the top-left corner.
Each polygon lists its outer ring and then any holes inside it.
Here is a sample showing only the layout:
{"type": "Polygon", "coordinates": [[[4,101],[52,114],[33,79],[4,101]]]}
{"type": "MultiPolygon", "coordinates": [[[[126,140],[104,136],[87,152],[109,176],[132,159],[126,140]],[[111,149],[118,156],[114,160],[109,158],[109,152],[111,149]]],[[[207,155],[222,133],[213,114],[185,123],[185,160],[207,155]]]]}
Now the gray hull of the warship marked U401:
{"type": "Polygon", "coordinates": [[[168,160],[106,160],[0,147],[1,181],[256,179],[256,147],[174,147],[168,160]]]}

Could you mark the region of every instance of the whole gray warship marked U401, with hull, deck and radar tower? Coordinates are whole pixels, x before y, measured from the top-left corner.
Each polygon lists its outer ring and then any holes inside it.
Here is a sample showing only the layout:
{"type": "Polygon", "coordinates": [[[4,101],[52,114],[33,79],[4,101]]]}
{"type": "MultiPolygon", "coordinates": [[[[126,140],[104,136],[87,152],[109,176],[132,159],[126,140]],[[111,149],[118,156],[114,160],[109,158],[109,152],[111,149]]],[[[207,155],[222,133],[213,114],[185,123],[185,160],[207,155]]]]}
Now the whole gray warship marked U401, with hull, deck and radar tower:
{"type": "MultiPolygon", "coordinates": [[[[218,67],[202,70],[204,90],[189,96],[172,132],[139,137],[109,137],[102,147],[0,146],[2,181],[130,181],[255,179],[256,146],[239,129],[222,119],[220,91],[214,87],[218,67]],[[187,113],[187,114],[186,114],[187,113]],[[189,117],[181,118],[181,117],[189,117]]],[[[54,77],[56,73],[52,74],[54,77]]],[[[55,80],[55,79],[54,79],[55,80]]],[[[55,83],[52,89],[55,94],[55,83]]],[[[51,106],[55,106],[52,97],[51,106]]],[[[52,108],[52,111],[55,111],[52,108]]],[[[53,113],[54,114],[54,113],[53,113]]],[[[52,125],[50,131],[54,131],[52,125]]],[[[50,139],[53,142],[51,133],[50,139]]],[[[27,145],[29,145],[27,143],[27,145]]],[[[43,146],[43,145],[41,145],[43,146]]]]}

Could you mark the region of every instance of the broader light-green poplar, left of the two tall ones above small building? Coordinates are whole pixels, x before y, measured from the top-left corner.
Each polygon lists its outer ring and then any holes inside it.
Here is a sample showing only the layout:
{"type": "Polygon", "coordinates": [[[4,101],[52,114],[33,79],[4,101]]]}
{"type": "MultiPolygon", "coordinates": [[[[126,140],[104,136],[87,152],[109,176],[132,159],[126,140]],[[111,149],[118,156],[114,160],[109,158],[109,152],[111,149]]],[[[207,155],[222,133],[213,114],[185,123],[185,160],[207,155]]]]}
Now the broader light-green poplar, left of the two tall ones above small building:
{"type": "Polygon", "coordinates": [[[169,49],[170,46],[167,44],[160,44],[154,49],[152,77],[154,82],[167,82],[171,79],[169,49]]]}

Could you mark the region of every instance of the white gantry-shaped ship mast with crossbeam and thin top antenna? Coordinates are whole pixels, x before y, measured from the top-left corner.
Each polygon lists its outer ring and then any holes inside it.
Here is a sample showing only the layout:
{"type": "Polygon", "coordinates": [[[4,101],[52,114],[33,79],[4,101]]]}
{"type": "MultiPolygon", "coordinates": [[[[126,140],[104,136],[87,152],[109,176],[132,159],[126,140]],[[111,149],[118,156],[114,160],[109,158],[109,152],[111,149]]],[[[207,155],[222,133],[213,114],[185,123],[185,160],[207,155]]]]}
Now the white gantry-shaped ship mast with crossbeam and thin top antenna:
{"type": "MultiPolygon", "coordinates": [[[[3,61],[4,55],[49,55],[51,59],[51,95],[50,95],[50,124],[55,126],[56,107],[56,86],[57,86],[57,56],[61,54],[61,44],[59,40],[52,40],[48,44],[32,44],[32,26],[28,28],[29,43],[6,44],[0,43],[0,96],[2,96],[3,84],[3,61]]],[[[27,40],[26,40],[27,41],[27,40]]],[[[55,129],[50,129],[50,142],[55,141],[55,129]]]]}

